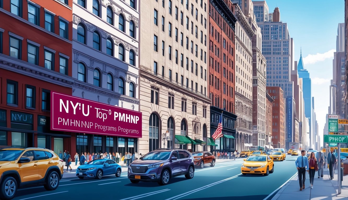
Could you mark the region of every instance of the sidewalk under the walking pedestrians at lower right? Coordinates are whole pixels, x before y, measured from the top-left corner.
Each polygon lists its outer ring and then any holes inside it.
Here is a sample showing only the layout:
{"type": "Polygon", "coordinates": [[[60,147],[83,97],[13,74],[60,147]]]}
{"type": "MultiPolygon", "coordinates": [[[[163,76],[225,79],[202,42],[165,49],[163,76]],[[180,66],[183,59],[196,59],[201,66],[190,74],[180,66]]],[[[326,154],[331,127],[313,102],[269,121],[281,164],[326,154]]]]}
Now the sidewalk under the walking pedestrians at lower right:
{"type": "Polygon", "coordinates": [[[295,177],[287,182],[272,200],[338,200],[348,198],[348,175],[343,175],[341,194],[338,194],[338,175],[335,170],[333,180],[330,180],[330,173],[324,169],[324,177],[318,178],[317,172],[314,176],[313,189],[310,189],[309,174],[306,172],[306,188],[300,191],[299,179],[295,177]]]}

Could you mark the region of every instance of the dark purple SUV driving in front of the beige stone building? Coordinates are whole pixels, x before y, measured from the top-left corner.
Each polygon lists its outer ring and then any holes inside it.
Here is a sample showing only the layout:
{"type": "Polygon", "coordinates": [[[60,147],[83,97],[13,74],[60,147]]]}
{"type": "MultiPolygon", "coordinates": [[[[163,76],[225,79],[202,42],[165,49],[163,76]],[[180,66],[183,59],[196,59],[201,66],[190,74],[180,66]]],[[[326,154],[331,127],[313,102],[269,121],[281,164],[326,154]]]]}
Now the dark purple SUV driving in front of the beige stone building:
{"type": "Polygon", "coordinates": [[[191,179],[194,174],[193,156],[183,149],[156,149],[128,167],[128,178],[132,183],[147,181],[166,185],[175,176],[185,175],[191,179]]]}

